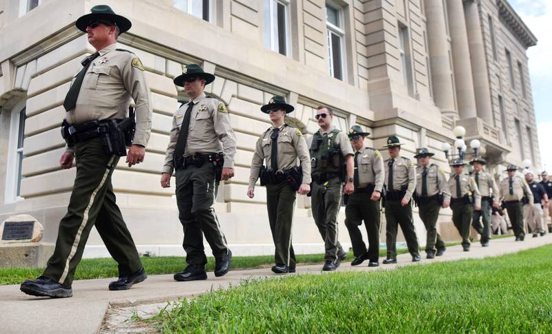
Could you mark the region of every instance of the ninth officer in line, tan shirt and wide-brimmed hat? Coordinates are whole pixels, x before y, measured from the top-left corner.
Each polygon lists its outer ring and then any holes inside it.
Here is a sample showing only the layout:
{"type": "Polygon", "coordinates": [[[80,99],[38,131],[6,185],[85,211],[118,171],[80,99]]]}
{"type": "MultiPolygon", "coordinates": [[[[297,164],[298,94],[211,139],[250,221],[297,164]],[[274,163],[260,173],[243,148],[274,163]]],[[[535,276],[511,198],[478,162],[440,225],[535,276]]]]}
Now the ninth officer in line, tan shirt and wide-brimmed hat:
{"type": "Polygon", "coordinates": [[[470,165],[473,166],[472,177],[481,194],[481,209],[473,211],[471,225],[477,233],[480,233],[482,247],[488,247],[489,239],[491,239],[491,206],[498,207],[498,198],[500,196],[495,178],[486,171],[483,171],[483,166],[486,165],[485,159],[477,156],[470,161],[470,165]]]}

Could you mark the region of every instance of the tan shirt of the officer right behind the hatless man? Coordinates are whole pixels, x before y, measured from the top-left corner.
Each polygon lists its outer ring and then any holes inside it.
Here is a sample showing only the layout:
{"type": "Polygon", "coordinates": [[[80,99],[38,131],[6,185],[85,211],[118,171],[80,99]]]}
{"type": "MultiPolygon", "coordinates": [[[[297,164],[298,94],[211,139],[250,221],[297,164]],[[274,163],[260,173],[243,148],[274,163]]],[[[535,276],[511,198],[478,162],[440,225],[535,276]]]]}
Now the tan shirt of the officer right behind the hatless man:
{"type": "Polygon", "coordinates": [[[384,158],[377,149],[364,147],[355,152],[358,168],[358,187],[364,188],[368,184],[374,185],[374,191],[382,192],[384,187],[384,158]]]}

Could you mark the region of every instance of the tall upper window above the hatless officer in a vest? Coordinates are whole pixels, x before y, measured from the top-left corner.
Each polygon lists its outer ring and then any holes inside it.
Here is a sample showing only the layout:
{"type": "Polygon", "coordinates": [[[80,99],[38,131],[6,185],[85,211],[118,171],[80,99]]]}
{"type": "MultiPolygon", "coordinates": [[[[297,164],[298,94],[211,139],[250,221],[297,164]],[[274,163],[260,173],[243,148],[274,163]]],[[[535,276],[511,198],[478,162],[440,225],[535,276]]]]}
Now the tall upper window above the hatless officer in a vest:
{"type": "Polygon", "coordinates": [[[328,67],[330,75],[344,80],[345,31],[343,30],[343,10],[326,3],[326,28],[328,32],[328,67]]]}

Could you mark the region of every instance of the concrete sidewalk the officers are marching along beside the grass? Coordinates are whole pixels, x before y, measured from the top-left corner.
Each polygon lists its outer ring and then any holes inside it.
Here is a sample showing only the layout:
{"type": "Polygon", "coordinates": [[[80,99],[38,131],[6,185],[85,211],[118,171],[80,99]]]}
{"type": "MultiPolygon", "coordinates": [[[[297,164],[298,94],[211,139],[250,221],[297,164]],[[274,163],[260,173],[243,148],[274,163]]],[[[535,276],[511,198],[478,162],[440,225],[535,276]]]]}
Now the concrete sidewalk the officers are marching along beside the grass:
{"type": "MultiPolygon", "coordinates": [[[[426,260],[425,254],[422,253],[422,261],[415,264],[486,258],[551,243],[552,234],[550,233],[539,238],[531,238],[529,235],[524,242],[515,242],[513,237],[491,240],[491,246],[486,248],[474,242],[470,252],[462,251],[460,246],[449,247],[442,257],[435,260],[426,260]]],[[[394,269],[413,264],[408,253],[399,255],[397,260],[397,264],[380,264],[380,267],[376,268],[366,267],[368,262],[364,262],[359,267],[351,267],[350,262],[344,262],[338,271],[394,269]]],[[[297,274],[320,274],[321,269],[322,264],[297,267],[297,274]]],[[[97,333],[109,307],[178,300],[205,293],[211,289],[224,289],[230,285],[237,285],[241,280],[248,278],[275,276],[282,277],[282,275],[274,275],[270,269],[230,271],[221,278],[215,278],[213,273],[208,273],[208,280],[196,282],[175,282],[172,280],[172,274],[152,275],[148,280],[128,291],[108,291],[108,284],[113,279],[79,280],[73,283],[73,297],[64,299],[35,298],[19,291],[19,285],[0,286],[0,332],[97,333]]]]}

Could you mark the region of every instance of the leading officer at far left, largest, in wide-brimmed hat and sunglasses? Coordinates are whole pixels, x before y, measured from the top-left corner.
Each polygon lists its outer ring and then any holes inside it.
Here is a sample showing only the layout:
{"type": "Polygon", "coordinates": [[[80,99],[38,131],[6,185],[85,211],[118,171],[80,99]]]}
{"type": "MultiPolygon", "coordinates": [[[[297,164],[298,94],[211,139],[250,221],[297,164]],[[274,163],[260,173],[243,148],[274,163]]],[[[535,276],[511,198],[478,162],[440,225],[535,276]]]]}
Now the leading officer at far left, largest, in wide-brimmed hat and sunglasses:
{"type": "Polygon", "coordinates": [[[97,51],[82,62],[83,68],[73,77],[63,102],[66,109],[63,129],[70,129],[70,133],[63,131],[67,134],[64,138],[68,147],[59,164],[69,169],[76,158],[77,176],[68,212],[59,222],[55,251],[46,270],[36,280],[21,284],[24,293],[52,298],[72,296],[73,275],[92,226],[119,264],[119,280],[109,284],[110,290],[130,289],[132,284],[147,277],[111,185],[112,171],[119,156],[126,154],[125,142],[112,143],[119,147],[114,154],[108,150],[107,142],[101,140],[108,140],[108,136],[99,136],[100,130],[103,134],[115,135],[112,132],[115,120],[126,117],[131,99],[134,99],[136,133],[126,163],[130,167],[144,160],[152,116],[150,90],[137,56],[116,46],[119,34],[129,30],[132,24],[109,6],[94,6],[91,13],[77,19],[75,25],[88,34],[88,42],[97,51]]]}

